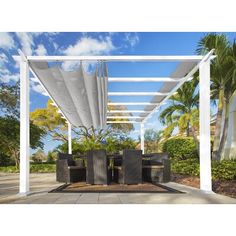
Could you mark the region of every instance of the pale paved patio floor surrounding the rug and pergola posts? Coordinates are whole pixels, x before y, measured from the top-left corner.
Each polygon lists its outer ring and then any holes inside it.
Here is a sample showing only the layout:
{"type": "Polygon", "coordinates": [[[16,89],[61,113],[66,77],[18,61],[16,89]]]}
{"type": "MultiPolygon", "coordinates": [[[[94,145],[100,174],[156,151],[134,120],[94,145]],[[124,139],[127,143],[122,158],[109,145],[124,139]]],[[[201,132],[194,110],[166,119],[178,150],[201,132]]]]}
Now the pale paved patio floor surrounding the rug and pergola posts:
{"type": "Polygon", "coordinates": [[[13,204],[234,204],[236,199],[206,194],[199,189],[177,183],[164,184],[182,193],[48,193],[61,185],[55,174],[31,174],[32,193],[19,196],[18,174],[0,173],[0,203],[13,204]]]}

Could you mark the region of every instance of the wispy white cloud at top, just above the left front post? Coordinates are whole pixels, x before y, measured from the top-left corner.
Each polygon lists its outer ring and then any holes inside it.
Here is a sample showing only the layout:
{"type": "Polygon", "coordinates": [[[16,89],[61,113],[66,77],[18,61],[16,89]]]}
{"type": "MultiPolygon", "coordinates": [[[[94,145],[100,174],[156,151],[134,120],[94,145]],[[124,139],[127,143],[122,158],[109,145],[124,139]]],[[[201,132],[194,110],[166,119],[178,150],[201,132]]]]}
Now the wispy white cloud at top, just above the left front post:
{"type": "Polygon", "coordinates": [[[32,47],[34,46],[33,34],[25,32],[17,32],[16,35],[20,41],[22,51],[27,56],[32,55],[32,47]]]}

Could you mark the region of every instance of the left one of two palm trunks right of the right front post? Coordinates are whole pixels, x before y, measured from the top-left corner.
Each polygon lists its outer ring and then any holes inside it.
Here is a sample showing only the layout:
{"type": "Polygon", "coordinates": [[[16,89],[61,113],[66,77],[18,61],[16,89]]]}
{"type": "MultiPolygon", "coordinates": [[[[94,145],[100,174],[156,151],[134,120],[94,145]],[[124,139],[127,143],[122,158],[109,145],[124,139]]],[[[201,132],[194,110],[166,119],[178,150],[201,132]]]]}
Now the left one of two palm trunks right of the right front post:
{"type": "Polygon", "coordinates": [[[217,152],[219,150],[219,145],[220,145],[223,109],[224,109],[224,91],[221,89],[219,92],[218,111],[216,116],[215,134],[213,141],[213,151],[212,151],[213,160],[217,159],[217,152]]]}

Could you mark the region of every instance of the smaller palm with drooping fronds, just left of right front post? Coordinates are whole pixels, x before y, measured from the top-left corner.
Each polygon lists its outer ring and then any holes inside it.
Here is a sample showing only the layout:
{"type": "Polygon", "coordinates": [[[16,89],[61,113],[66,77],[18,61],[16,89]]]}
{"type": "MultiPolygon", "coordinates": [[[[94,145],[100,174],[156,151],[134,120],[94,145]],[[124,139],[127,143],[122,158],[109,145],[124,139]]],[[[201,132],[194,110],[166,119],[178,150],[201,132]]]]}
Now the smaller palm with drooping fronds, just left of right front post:
{"type": "MultiPolygon", "coordinates": [[[[164,130],[164,136],[171,135],[175,127],[178,127],[180,133],[186,132],[190,136],[190,126],[195,120],[194,108],[198,108],[199,94],[196,92],[198,80],[186,82],[177,92],[170,97],[171,104],[161,112],[160,121],[167,125],[164,130]]],[[[196,139],[196,131],[192,129],[192,135],[196,139]]]]}

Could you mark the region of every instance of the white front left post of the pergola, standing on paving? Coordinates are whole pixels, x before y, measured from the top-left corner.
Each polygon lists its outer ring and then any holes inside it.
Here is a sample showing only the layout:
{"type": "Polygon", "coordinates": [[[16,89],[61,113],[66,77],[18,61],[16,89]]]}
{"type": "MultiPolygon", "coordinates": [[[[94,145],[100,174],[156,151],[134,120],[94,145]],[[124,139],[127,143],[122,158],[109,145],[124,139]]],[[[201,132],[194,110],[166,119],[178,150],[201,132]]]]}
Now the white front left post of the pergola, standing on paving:
{"type": "Polygon", "coordinates": [[[20,194],[29,192],[29,65],[23,56],[20,61],[20,194]]]}

